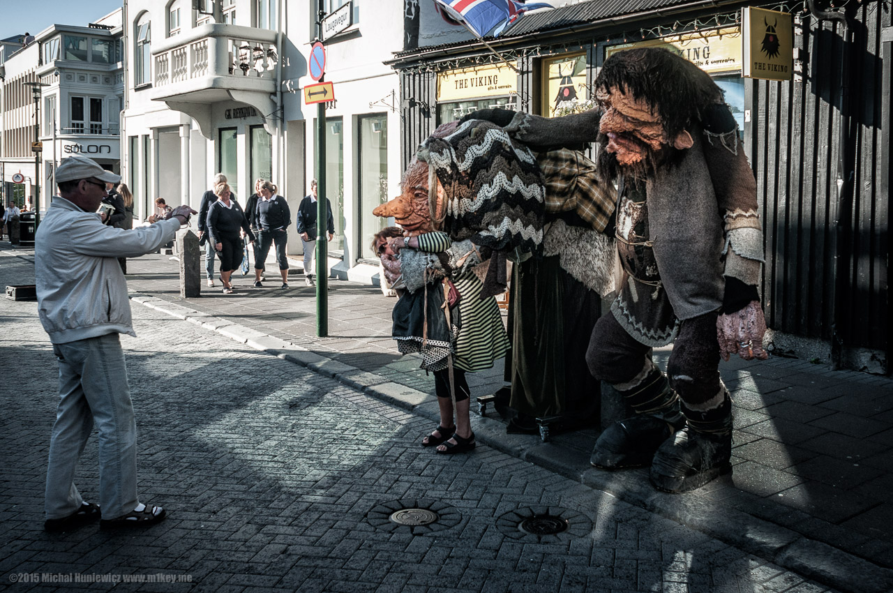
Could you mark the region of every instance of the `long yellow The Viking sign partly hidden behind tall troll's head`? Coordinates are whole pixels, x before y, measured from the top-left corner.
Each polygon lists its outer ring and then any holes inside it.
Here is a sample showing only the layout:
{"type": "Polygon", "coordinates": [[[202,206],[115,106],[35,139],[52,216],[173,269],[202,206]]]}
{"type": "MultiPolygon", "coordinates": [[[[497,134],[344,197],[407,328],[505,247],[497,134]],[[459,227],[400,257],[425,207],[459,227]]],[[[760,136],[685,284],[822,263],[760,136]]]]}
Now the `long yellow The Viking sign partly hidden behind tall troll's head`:
{"type": "Polygon", "coordinates": [[[741,70],[741,29],[738,27],[683,33],[612,46],[605,50],[605,59],[632,47],[664,47],[711,74],[741,70]]]}

